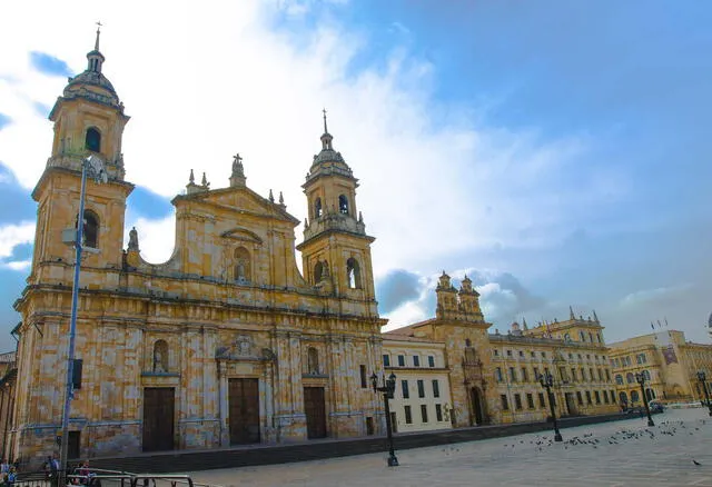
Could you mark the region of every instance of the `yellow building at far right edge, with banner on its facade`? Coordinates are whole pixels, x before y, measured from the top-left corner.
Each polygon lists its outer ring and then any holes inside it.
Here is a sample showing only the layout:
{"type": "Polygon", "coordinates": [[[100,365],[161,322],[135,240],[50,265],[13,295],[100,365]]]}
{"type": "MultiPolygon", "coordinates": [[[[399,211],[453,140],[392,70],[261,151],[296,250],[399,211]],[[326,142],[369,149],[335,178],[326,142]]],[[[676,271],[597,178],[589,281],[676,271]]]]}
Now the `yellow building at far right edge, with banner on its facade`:
{"type": "Polygon", "coordinates": [[[708,391],[712,390],[712,345],[686,341],[682,331],[662,329],[610,347],[616,391],[629,406],[640,406],[643,400],[635,374],[645,377],[649,400],[703,400],[699,371],[705,372],[708,391]]]}

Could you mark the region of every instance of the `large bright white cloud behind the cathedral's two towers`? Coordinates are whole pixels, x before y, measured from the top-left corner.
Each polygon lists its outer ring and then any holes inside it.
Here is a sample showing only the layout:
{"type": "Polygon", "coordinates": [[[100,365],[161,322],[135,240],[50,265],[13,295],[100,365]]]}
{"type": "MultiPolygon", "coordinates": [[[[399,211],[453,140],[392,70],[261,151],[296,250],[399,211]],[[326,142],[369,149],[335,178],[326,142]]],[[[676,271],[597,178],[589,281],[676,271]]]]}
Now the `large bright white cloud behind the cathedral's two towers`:
{"type": "MultiPolygon", "coordinates": [[[[26,188],[37,182],[52,129],[32,103],[51,105],[66,80],[33,71],[28,52],[48,52],[79,72],[101,19],[103,71],[131,116],[123,137],[127,179],[167,198],[180,192],[191,168],[197,177],[206,171],[212,188],[227,186],[231,155],[240,152],[248,186],[265,196],[270,188],[284,191],[288,210],[303,220],[300,185],[320,148],[326,106],[334,143],[360,180],[357,203],[377,237],[377,274],[429,272],[445,256],[483,247],[547,246],[568,233],[577,210],[591,207],[595,185],[555,183],[586,151],[586,140],[544,142],[534,131],[475,126],[473,107],[433,99],[437,67],[397,43],[379,62],[354,70],[368,34],[338,17],[296,40],[271,28],[275,16],[318,17],[320,7],[20,2],[0,19],[0,44],[12,47],[0,61],[0,106],[13,120],[0,131],[0,160],[26,188]],[[575,201],[562,206],[570,195],[575,201]]],[[[131,223],[147,260],[170,257],[172,217],[131,223]]]]}

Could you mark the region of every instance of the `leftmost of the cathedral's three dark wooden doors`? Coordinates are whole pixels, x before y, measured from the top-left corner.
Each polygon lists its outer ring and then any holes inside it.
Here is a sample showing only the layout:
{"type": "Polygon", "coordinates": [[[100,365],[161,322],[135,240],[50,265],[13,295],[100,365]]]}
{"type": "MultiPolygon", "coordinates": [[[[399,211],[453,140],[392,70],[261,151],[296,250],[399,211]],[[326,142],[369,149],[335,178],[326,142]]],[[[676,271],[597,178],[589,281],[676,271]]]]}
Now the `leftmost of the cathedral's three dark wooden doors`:
{"type": "Polygon", "coordinates": [[[174,449],[175,400],[172,387],[144,389],[144,451],[174,449]]]}

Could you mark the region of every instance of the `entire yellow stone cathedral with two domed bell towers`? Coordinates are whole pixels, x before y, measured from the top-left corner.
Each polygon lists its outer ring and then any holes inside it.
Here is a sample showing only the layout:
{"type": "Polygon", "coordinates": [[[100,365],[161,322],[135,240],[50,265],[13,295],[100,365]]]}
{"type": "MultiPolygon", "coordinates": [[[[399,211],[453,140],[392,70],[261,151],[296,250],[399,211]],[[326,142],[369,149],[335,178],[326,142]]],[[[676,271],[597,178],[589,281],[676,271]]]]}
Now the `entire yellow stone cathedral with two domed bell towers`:
{"type": "Polygon", "coordinates": [[[160,265],[125,248],[121,151],[129,121],[95,49],[57,99],[55,138],[32,198],[37,232],[27,287],[14,304],[18,394],[10,444],[27,461],[56,450],[67,374],[82,161],[88,180],[77,319],[80,388],[71,401],[69,457],[217,448],[379,433],[382,405],[366,377],[380,369],[373,237],[356,203],[358,181],[326,130],[306,168],[304,239],[279,197],[246,183],[239,156],[229,181],[192,172],[177,196],[176,242],[160,265]],[[65,238],[63,238],[65,237],[65,238]],[[304,276],[296,262],[300,250],[304,276]]]}

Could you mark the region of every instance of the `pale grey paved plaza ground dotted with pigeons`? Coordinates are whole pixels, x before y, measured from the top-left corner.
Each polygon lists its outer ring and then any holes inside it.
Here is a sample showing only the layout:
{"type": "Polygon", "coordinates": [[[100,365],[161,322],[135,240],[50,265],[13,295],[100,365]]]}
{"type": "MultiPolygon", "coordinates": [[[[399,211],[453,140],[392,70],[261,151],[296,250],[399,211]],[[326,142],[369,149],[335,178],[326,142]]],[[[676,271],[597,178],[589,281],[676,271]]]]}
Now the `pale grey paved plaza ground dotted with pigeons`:
{"type": "MultiPolygon", "coordinates": [[[[191,474],[222,486],[712,486],[706,409],[387,454],[191,474]],[[700,465],[695,465],[695,461],[700,465]]],[[[397,439],[396,439],[397,440],[397,439]]]]}

